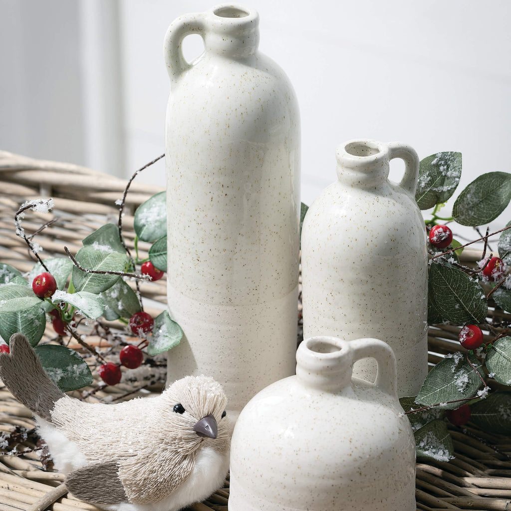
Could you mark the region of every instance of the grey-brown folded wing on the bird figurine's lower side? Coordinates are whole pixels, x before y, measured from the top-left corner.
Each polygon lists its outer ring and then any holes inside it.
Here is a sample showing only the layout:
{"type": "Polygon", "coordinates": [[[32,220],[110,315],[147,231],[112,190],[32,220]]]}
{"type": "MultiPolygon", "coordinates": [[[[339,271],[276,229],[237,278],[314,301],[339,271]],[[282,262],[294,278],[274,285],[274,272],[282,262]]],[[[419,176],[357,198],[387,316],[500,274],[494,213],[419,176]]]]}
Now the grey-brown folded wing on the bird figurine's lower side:
{"type": "Polygon", "coordinates": [[[75,497],[92,504],[127,502],[118,469],[117,461],[91,463],[71,472],[65,478],[65,485],[75,497]]]}

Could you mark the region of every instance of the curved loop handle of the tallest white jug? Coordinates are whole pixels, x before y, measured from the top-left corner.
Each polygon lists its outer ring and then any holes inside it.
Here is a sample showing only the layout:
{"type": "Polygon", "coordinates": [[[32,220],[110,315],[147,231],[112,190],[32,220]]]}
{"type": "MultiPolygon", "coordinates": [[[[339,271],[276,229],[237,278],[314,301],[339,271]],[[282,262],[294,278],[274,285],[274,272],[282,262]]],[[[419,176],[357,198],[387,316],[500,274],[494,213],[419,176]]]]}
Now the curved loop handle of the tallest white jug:
{"type": "Polygon", "coordinates": [[[203,13],[185,14],[172,21],[164,39],[165,64],[171,81],[176,81],[192,67],[183,56],[182,42],[187,35],[199,34],[204,38],[203,13]]]}

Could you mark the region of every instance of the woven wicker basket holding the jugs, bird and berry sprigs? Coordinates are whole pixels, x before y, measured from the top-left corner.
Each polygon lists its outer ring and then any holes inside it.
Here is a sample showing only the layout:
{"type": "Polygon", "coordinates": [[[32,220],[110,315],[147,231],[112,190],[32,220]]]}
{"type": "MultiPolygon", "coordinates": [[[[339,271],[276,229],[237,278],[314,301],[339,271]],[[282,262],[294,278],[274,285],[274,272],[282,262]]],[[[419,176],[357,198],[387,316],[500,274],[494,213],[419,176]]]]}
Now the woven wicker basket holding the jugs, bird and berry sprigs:
{"type": "MultiPolygon", "coordinates": [[[[114,202],[122,197],[126,186],[126,181],[122,179],[75,165],[34,160],[7,152],[0,152],[0,181],[0,261],[20,271],[28,271],[34,264],[24,240],[15,235],[13,228],[14,213],[22,202],[38,197],[53,197],[54,210],[45,215],[30,213],[24,227],[30,234],[49,219],[60,217],[57,223],[37,235],[37,241],[44,249],[41,255],[55,257],[63,254],[64,245],[76,253],[85,236],[106,222],[117,223],[119,212],[114,202]]],[[[126,201],[128,211],[123,217],[123,232],[129,248],[133,248],[134,239],[133,217],[130,215],[138,204],[161,190],[136,181],[132,183],[126,201]]],[[[139,245],[142,257],[145,257],[148,249],[148,244],[139,245]]],[[[143,283],[141,288],[143,295],[153,300],[152,306],[146,307],[148,312],[157,313],[164,309],[165,278],[143,283]]],[[[494,307],[490,308],[489,314],[511,319],[510,315],[494,307]]],[[[298,319],[300,327],[299,323],[298,319]]],[[[445,325],[430,326],[431,366],[447,353],[460,350],[458,330],[457,327],[445,325]]],[[[53,332],[47,330],[43,341],[50,340],[52,336],[53,332]]],[[[162,379],[159,383],[162,385],[162,379]]],[[[490,385],[492,388],[498,387],[496,382],[490,381],[490,385]]],[[[113,399],[124,398],[129,391],[130,387],[126,385],[106,387],[87,399],[97,401],[108,393],[113,394],[113,399]]],[[[0,389],[0,431],[11,432],[16,426],[32,429],[34,422],[31,414],[7,390],[0,389]]],[[[417,509],[511,510],[511,439],[483,432],[470,427],[470,424],[463,429],[451,427],[451,434],[455,459],[449,462],[417,462],[417,509]]],[[[24,445],[27,450],[34,448],[30,436],[24,445]]],[[[67,494],[62,481],[62,474],[43,468],[39,451],[20,456],[0,456],[0,511],[96,509],[67,494]]],[[[227,511],[228,492],[227,480],[222,490],[189,509],[227,511]]]]}

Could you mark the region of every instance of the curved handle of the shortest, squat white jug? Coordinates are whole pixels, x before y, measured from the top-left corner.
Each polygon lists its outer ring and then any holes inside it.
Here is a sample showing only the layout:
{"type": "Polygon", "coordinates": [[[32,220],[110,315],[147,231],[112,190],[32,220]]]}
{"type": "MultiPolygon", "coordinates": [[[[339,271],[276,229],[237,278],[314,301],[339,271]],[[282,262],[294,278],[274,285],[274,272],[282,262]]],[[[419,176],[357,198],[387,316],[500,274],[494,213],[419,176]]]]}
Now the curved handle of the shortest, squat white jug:
{"type": "Polygon", "coordinates": [[[374,358],[378,364],[375,386],[393,398],[398,398],[398,373],[396,356],[391,347],[380,339],[356,339],[349,342],[353,350],[353,361],[361,358],[374,358]]]}

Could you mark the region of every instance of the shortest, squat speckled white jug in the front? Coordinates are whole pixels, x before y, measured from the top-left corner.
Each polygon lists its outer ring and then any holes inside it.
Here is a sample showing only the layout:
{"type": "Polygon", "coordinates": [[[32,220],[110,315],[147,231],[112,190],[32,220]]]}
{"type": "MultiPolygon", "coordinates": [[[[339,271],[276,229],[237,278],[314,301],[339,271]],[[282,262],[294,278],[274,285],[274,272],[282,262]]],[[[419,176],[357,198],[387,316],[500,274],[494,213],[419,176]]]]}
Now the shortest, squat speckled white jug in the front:
{"type": "Polygon", "coordinates": [[[229,511],[415,511],[415,442],[377,339],[314,337],[252,398],[231,440],[229,511]],[[375,357],[376,382],[352,378],[375,357]]]}

